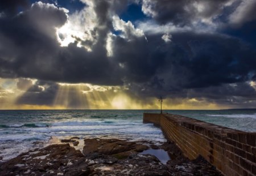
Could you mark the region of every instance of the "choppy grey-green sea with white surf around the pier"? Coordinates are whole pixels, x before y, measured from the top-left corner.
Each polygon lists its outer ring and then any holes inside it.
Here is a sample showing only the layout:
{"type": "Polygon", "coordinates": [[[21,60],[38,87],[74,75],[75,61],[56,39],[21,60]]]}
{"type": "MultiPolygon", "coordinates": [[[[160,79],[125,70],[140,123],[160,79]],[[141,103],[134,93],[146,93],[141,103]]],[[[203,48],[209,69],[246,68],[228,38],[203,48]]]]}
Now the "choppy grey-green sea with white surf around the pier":
{"type": "MultiPolygon", "coordinates": [[[[166,141],[162,131],[143,123],[143,113],[159,110],[0,110],[0,162],[30,149],[49,144],[52,138],[117,138],[148,141],[160,145],[166,141]]],[[[163,110],[163,113],[256,132],[256,109],[163,110]]]]}

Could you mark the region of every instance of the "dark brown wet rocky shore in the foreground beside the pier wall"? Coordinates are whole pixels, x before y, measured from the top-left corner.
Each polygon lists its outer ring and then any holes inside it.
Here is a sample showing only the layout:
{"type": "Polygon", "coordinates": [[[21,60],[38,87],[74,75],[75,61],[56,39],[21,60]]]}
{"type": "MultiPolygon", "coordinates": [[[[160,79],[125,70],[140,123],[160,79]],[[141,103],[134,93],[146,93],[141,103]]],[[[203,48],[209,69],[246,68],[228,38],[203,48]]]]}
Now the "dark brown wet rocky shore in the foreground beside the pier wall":
{"type": "Polygon", "coordinates": [[[221,175],[203,158],[190,161],[174,143],[160,146],[142,141],[84,139],[82,151],[76,150],[81,139],[61,140],[0,163],[0,175],[221,175]],[[164,149],[171,156],[166,164],[147,149],[164,149]]]}

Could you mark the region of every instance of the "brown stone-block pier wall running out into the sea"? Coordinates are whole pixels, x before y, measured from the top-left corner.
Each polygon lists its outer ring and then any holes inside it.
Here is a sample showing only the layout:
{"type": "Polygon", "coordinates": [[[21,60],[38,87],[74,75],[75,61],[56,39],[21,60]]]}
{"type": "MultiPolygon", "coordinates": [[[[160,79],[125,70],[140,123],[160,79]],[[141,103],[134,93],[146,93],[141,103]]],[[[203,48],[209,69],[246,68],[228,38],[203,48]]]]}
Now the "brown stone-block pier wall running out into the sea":
{"type": "Polygon", "coordinates": [[[231,128],[174,114],[143,114],[144,123],[162,128],[183,154],[193,160],[199,155],[224,175],[256,175],[256,132],[231,128]]]}

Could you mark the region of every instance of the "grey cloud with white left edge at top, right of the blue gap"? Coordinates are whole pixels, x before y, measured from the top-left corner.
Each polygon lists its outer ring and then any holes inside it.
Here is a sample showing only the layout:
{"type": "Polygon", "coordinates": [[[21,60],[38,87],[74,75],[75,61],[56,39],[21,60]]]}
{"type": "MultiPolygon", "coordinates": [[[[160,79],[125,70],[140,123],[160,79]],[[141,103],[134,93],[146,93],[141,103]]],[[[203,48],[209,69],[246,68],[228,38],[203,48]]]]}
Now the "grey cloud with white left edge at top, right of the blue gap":
{"type": "Polygon", "coordinates": [[[189,25],[197,18],[212,18],[216,16],[225,3],[230,0],[145,0],[143,11],[145,14],[161,23],[174,23],[177,25],[189,25]]]}

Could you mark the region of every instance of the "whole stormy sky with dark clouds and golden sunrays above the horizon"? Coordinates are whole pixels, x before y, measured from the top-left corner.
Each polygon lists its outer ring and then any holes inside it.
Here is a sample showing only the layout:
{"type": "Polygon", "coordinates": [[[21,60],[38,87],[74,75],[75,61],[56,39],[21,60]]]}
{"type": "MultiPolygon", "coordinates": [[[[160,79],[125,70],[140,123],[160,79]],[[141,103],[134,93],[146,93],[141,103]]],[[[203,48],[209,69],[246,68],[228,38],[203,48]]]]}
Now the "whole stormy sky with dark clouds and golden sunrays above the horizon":
{"type": "Polygon", "coordinates": [[[0,109],[256,108],[255,0],[1,0],[0,109]]]}

